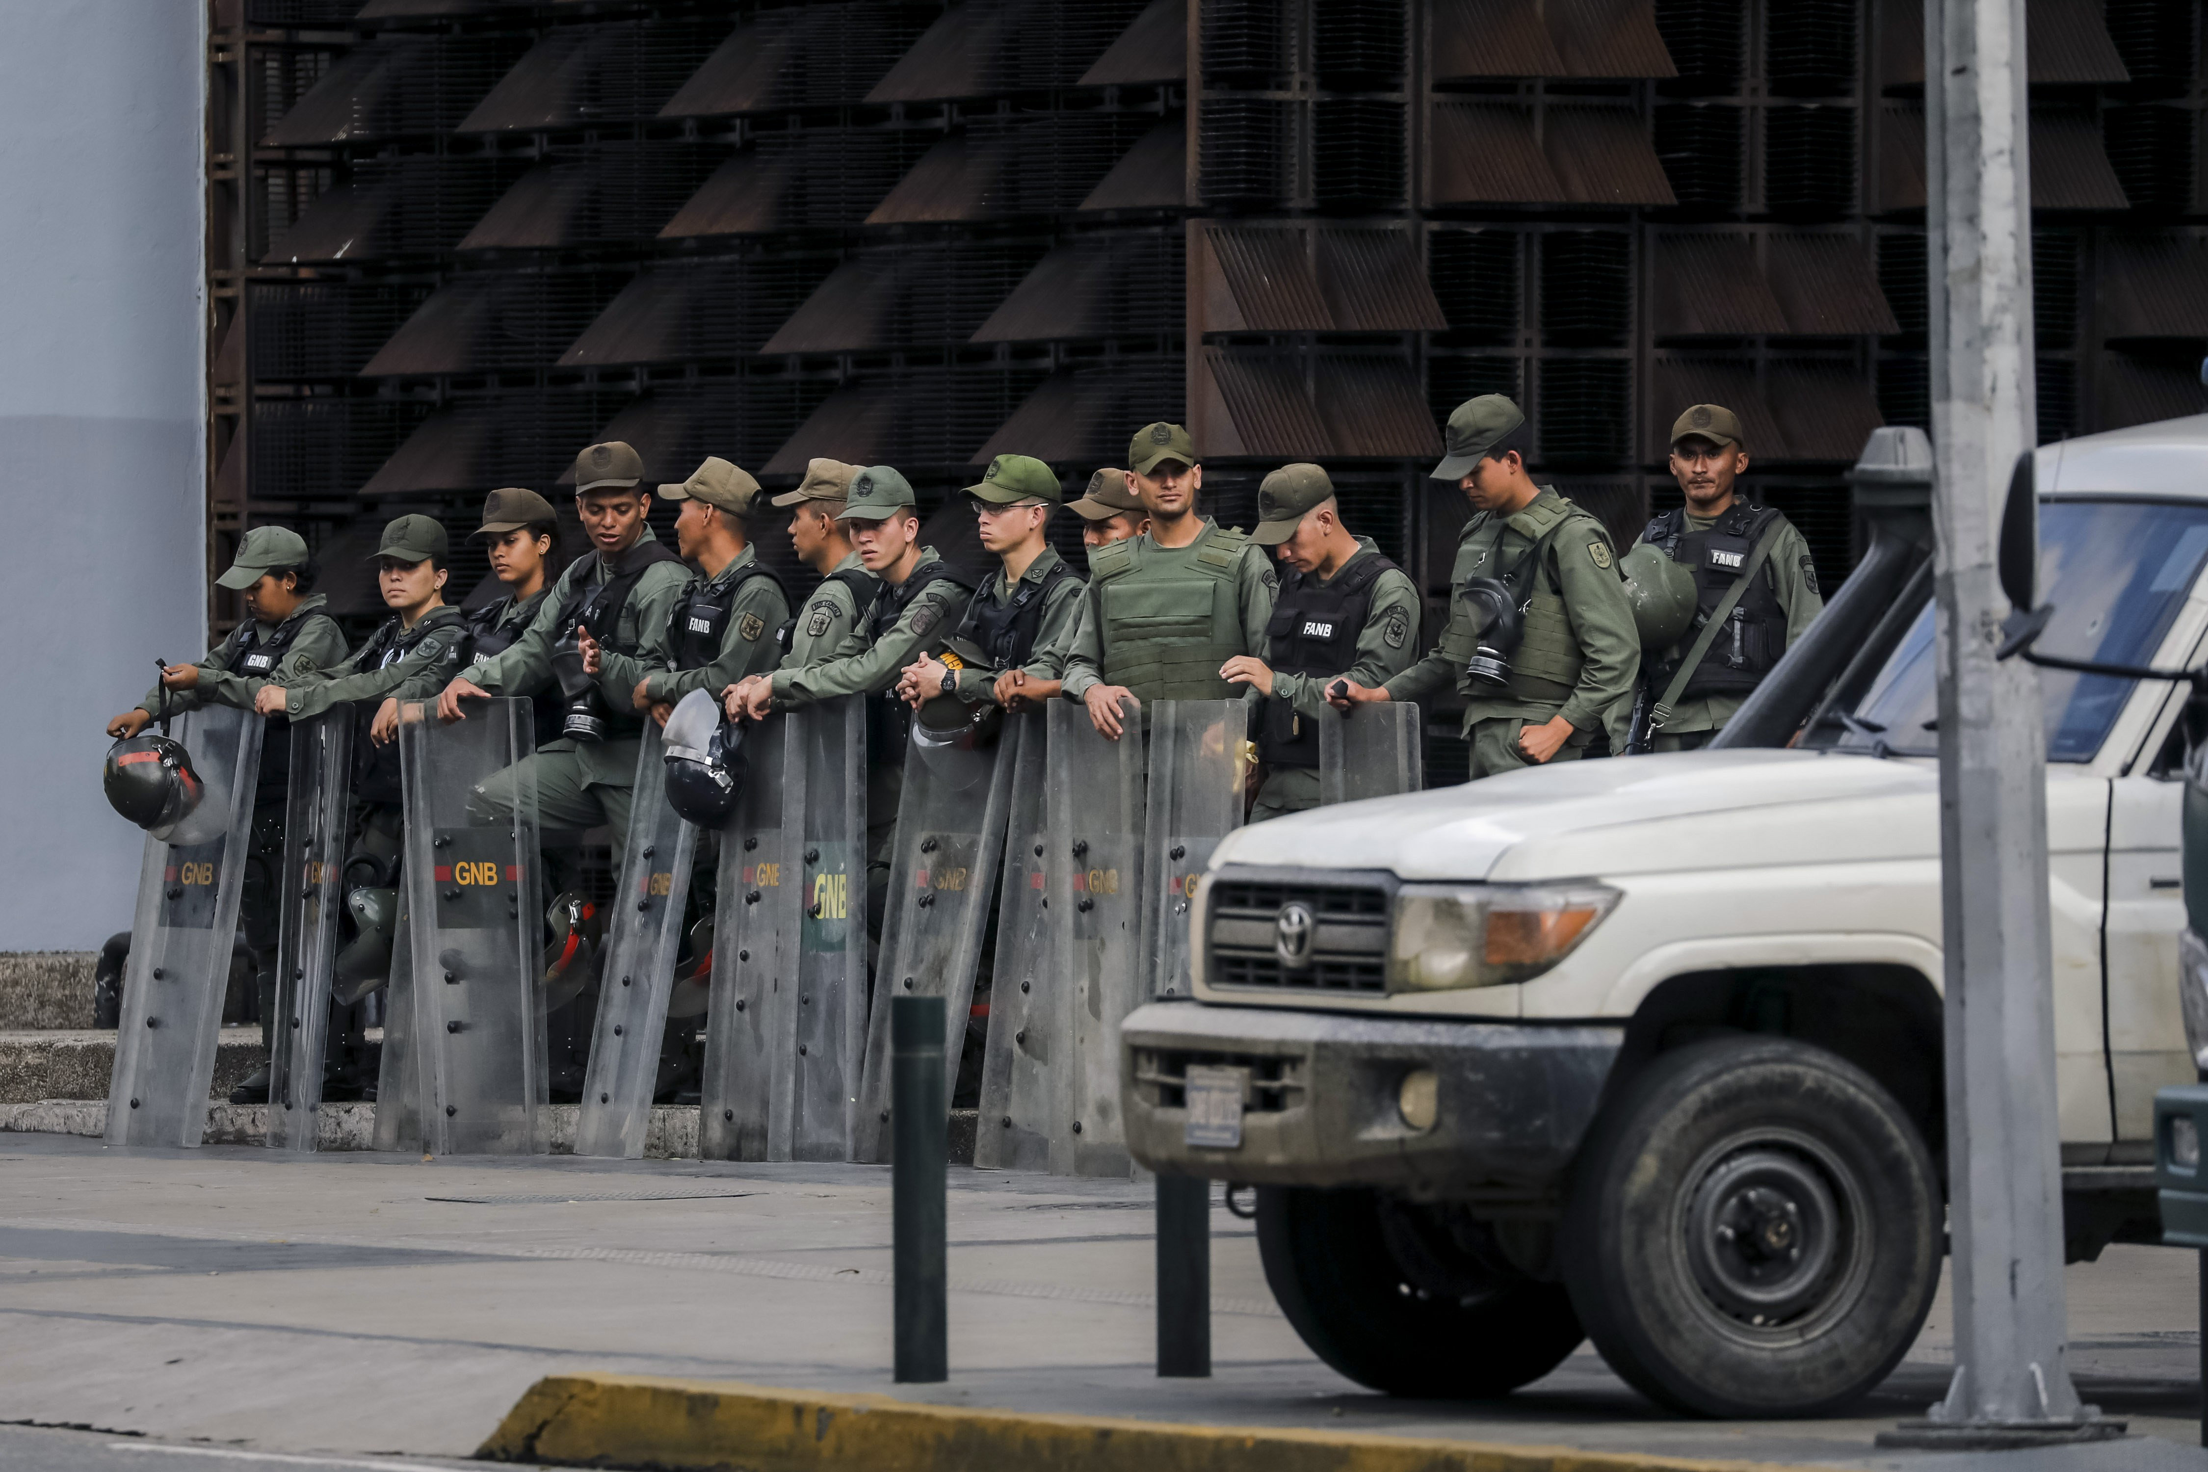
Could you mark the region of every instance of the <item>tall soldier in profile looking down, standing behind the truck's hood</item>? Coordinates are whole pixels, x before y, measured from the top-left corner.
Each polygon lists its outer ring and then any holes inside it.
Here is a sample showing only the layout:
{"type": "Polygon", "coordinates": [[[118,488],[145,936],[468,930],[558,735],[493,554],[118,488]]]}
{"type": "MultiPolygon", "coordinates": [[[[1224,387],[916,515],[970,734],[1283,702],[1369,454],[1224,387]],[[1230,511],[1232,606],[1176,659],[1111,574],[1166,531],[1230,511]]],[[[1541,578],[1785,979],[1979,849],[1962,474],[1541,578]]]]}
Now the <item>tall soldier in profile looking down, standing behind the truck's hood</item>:
{"type": "Polygon", "coordinates": [[[1448,415],[1433,479],[1457,481],[1477,512],[1457,541],[1448,627],[1433,653],[1336,702],[1420,700],[1455,682],[1475,779],[1579,757],[1599,728],[1623,750],[1641,669],[1610,534],[1526,474],[1530,448],[1526,415],[1499,393],[1448,415]]]}

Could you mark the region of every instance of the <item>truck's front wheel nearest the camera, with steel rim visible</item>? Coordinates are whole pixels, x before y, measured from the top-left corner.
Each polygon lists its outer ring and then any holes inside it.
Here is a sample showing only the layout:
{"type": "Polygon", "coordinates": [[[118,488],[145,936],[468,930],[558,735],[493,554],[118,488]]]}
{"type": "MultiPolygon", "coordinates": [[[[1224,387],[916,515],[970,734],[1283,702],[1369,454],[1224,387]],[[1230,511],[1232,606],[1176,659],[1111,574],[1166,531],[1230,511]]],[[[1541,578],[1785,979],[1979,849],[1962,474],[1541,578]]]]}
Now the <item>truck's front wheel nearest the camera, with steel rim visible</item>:
{"type": "Polygon", "coordinates": [[[1846,1406],[1894,1368],[1941,1271],[1941,1190],[1870,1075],[1784,1037],[1658,1055],[1581,1148],[1572,1304],[1649,1399],[1711,1417],[1846,1406]]]}

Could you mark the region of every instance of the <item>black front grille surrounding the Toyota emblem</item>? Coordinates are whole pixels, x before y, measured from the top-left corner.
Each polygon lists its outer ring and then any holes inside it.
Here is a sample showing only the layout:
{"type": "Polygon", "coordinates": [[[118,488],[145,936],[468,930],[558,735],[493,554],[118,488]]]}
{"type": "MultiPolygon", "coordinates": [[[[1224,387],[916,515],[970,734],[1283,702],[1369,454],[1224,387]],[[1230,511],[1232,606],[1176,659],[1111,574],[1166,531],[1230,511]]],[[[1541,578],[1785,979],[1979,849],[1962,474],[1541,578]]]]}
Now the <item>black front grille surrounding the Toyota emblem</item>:
{"type": "Polygon", "coordinates": [[[1382,995],[1387,991],[1389,892],[1380,885],[1318,885],[1270,878],[1212,883],[1212,986],[1382,995]],[[1301,964],[1281,956],[1281,911],[1303,905],[1312,945],[1301,964]]]}

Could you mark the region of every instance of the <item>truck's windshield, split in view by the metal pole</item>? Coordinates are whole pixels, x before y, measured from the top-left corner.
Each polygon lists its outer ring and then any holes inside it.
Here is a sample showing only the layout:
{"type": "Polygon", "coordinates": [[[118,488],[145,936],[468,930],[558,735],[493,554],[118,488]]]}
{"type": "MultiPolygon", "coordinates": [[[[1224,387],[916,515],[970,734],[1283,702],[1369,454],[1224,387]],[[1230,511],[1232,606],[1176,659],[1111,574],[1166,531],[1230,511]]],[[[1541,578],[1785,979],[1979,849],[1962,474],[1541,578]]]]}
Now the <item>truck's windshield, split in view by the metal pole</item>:
{"type": "MultiPolygon", "coordinates": [[[[2201,561],[2208,505],[2186,501],[2040,501],[2040,602],[2056,616],[2038,649],[2073,660],[2146,664],[2162,647],[2201,561]]],[[[2135,680],[2042,669],[2047,759],[2091,761],[2135,680]]],[[[1939,755],[1932,600],[1846,719],[1837,750],[1939,755]]]]}

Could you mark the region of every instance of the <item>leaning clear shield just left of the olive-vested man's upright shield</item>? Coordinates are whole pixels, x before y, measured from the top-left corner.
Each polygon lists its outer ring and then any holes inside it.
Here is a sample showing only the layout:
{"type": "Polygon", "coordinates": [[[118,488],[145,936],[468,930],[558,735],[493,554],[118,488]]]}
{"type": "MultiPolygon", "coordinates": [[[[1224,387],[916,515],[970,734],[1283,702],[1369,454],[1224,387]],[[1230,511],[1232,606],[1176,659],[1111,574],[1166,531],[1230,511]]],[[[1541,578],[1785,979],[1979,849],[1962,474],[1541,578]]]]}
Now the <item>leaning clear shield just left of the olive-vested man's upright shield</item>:
{"type": "Polygon", "coordinates": [[[1051,1009],[1064,986],[1051,949],[1051,909],[1044,903],[1051,832],[1049,713],[1007,717],[1000,739],[1005,755],[998,761],[1011,764],[1011,817],[1005,834],[1005,887],[996,907],[996,980],[989,989],[989,1044],[980,1066],[974,1163],[983,1170],[1049,1170],[1060,1084],[1055,1070],[1064,1070],[1071,1059],[1060,1035],[1064,1017],[1051,1009]]]}

